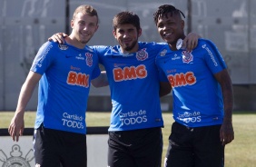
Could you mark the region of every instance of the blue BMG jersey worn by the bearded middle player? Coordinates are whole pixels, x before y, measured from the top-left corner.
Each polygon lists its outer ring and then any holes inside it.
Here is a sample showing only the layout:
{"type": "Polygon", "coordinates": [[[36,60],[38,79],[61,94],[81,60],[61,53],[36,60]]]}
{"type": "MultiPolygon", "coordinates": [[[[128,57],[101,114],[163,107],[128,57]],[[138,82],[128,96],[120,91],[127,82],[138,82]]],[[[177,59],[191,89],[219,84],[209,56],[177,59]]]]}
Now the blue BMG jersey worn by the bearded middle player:
{"type": "Polygon", "coordinates": [[[162,44],[139,43],[139,51],[122,54],[120,46],[94,46],[105,67],[113,109],[109,131],[162,127],[160,80],[155,57],[162,44]]]}

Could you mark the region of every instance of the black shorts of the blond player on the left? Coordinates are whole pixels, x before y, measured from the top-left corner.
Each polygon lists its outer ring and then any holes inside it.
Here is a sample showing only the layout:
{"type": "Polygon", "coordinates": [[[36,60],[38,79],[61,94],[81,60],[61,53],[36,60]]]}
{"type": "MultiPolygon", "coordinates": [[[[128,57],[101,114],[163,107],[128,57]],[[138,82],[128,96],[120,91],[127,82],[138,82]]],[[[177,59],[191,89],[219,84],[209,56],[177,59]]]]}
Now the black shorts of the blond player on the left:
{"type": "Polygon", "coordinates": [[[34,160],[40,167],[86,167],[86,135],[41,125],[34,130],[34,160]]]}

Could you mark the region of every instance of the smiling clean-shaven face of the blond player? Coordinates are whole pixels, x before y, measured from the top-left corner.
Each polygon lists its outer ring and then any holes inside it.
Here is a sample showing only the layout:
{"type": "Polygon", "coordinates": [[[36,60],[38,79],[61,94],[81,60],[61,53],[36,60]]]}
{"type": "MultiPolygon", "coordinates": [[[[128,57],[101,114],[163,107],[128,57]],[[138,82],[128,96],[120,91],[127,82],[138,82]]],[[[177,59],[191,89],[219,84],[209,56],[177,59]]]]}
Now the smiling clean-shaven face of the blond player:
{"type": "Polygon", "coordinates": [[[70,37],[74,40],[75,45],[80,45],[83,48],[97,31],[97,23],[97,16],[78,13],[71,21],[73,31],[70,37]]]}

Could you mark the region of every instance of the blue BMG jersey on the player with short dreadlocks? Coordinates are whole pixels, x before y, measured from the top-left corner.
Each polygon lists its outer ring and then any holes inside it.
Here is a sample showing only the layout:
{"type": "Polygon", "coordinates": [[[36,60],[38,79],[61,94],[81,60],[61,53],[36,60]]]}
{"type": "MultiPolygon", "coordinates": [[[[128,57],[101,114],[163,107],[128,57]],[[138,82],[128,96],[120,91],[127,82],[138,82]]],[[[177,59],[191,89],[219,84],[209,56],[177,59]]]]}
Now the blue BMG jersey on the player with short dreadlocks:
{"type": "Polygon", "coordinates": [[[192,52],[172,51],[166,46],[157,55],[156,64],[161,80],[172,85],[176,122],[189,127],[222,123],[222,89],[214,74],[225,69],[226,64],[211,41],[199,39],[192,52]]]}

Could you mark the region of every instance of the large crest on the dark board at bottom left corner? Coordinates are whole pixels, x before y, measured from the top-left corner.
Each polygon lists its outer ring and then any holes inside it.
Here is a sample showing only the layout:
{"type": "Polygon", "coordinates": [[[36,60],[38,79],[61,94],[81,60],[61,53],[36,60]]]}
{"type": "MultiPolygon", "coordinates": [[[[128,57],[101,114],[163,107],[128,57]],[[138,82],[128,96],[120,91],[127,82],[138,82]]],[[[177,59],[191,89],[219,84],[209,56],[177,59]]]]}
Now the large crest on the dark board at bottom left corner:
{"type": "Polygon", "coordinates": [[[20,151],[20,146],[15,144],[10,152],[11,157],[7,157],[5,152],[0,150],[0,162],[4,162],[1,167],[31,167],[29,162],[34,159],[34,152],[30,149],[29,152],[23,155],[20,151]]]}

